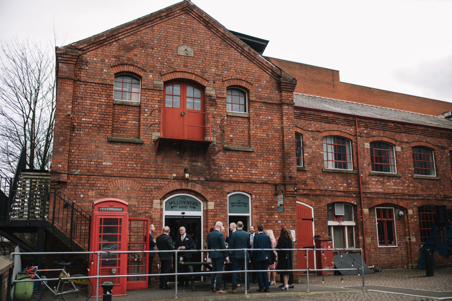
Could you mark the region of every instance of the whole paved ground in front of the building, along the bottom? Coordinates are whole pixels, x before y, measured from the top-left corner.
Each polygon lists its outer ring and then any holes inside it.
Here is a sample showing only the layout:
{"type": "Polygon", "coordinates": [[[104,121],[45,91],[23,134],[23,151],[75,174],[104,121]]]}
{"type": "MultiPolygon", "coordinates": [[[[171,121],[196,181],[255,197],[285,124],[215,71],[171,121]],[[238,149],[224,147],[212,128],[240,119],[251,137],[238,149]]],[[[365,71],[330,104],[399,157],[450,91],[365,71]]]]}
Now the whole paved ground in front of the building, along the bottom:
{"type": "MultiPolygon", "coordinates": [[[[425,270],[402,269],[383,270],[381,273],[365,274],[366,290],[363,291],[361,276],[310,276],[310,292],[306,292],[306,276],[300,278],[300,283],[295,284],[294,289],[282,291],[277,286],[270,287],[270,293],[256,292],[257,284],[251,284],[249,295],[244,295],[243,287],[237,289],[237,294],[211,294],[204,282],[197,282],[195,292],[191,287],[178,287],[178,298],[181,301],[204,300],[244,300],[247,298],[272,300],[299,300],[299,301],[438,301],[452,300],[452,269],[434,270],[434,277],[425,277],[425,270]],[[378,291],[378,292],[377,292],[378,291]],[[415,295],[415,296],[411,296],[415,295]]],[[[173,289],[163,291],[158,288],[150,288],[142,291],[128,291],[127,296],[116,296],[112,301],[170,301],[174,300],[173,289]]],[[[158,284],[157,284],[158,287],[158,284]]],[[[45,296],[42,300],[52,301],[51,296],[45,296]]],[[[91,297],[95,300],[95,296],[91,297]]],[[[101,296],[99,300],[102,300],[101,296]]]]}

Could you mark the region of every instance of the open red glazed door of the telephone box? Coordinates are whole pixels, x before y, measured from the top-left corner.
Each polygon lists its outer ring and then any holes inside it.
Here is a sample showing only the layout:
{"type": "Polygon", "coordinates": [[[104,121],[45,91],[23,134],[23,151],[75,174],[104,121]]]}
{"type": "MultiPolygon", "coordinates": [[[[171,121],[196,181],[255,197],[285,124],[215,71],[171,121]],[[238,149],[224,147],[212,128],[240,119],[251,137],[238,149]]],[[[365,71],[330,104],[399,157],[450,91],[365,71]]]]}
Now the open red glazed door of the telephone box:
{"type": "MultiPolygon", "coordinates": [[[[129,218],[128,251],[147,251],[149,246],[149,218],[129,218]]],[[[134,276],[147,274],[148,257],[146,253],[127,253],[127,290],[147,288],[147,277],[134,276]]]]}

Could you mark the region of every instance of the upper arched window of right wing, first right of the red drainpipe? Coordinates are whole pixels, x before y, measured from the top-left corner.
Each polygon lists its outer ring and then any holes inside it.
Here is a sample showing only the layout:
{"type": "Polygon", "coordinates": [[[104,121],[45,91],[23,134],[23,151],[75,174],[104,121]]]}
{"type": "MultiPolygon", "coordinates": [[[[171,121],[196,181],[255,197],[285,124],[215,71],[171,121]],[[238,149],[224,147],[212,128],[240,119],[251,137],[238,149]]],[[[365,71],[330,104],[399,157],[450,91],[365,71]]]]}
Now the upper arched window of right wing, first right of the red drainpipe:
{"type": "Polygon", "coordinates": [[[395,173],[394,145],[375,141],[370,144],[372,171],[395,173]]]}

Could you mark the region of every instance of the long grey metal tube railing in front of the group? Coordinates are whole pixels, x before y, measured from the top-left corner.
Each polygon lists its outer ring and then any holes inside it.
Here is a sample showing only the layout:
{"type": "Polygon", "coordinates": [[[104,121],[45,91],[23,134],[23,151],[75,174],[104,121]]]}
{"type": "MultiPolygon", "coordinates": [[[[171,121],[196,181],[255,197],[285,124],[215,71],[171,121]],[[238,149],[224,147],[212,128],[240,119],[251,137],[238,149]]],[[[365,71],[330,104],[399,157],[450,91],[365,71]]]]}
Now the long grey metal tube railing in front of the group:
{"type": "MultiPolygon", "coordinates": [[[[151,252],[158,252],[158,253],[174,253],[175,258],[178,258],[178,254],[179,253],[184,253],[184,252],[211,252],[211,251],[220,251],[220,252],[228,252],[228,251],[243,251],[244,252],[244,258],[247,257],[249,252],[252,251],[256,251],[256,250],[268,250],[268,251],[275,251],[275,250],[282,250],[282,251],[303,251],[306,254],[306,267],[309,266],[309,254],[308,251],[345,251],[346,253],[348,252],[360,252],[361,255],[361,267],[357,267],[357,268],[348,268],[348,269],[273,269],[273,270],[268,270],[268,269],[264,269],[264,270],[250,270],[248,269],[248,262],[247,260],[245,260],[245,266],[244,269],[242,270],[231,270],[231,271],[220,271],[220,272],[213,272],[213,271],[206,271],[206,272],[189,272],[189,273],[179,273],[178,272],[178,264],[174,264],[174,273],[141,273],[141,274],[137,274],[134,273],[133,276],[134,277],[149,277],[149,276],[175,276],[175,296],[174,299],[179,299],[178,296],[178,277],[179,276],[191,276],[191,275],[212,275],[212,274],[216,274],[216,273],[222,273],[222,274],[226,274],[226,273],[254,273],[254,272],[306,272],[306,292],[310,292],[309,290],[309,272],[318,272],[318,271],[350,271],[350,270],[357,270],[358,271],[358,277],[362,277],[363,280],[363,290],[365,290],[365,284],[364,284],[364,261],[363,261],[363,249],[358,249],[358,248],[335,248],[335,249],[316,249],[316,248],[312,248],[312,249],[221,249],[221,250],[214,250],[214,249],[209,249],[209,250],[168,250],[168,251],[161,251],[161,250],[151,250],[151,251],[147,251],[147,250],[143,250],[143,251],[138,251],[138,250],[133,250],[133,251],[93,251],[93,252],[26,252],[26,253],[11,253],[10,254],[10,260],[13,260],[14,255],[85,255],[84,257],[89,257],[89,255],[92,256],[96,256],[97,257],[97,270],[96,270],[96,275],[95,276],[87,276],[85,278],[95,278],[96,279],[96,285],[95,285],[95,289],[96,289],[96,301],[99,301],[99,286],[101,283],[100,279],[102,278],[121,278],[121,277],[130,277],[130,274],[119,274],[119,275],[100,275],[100,260],[102,258],[103,254],[128,254],[128,253],[135,253],[135,254],[143,254],[143,257],[146,257],[146,253],[151,253],[151,252]]],[[[353,259],[354,260],[354,259],[353,259]]],[[[89,264],[91,264],[92,262],[90,262],[89,264]]],[[[77,279],[80,277],[76,277],[76,278],[68,278],[68,279],[77,279]]],[[[59,278],[46,278],[47,281],[53,281],[53,280],[60,280],[59,278]]],[[[37,280],[28,280],[29,281],[40,281],[39,279],[37,280]]],[[[211,280],[212,281],[212,280],[211,280]]],[[[247,282],[249,281],[249,279],[247,279],[245,277],[245,283],[244,283],[244,287],[247,287],[247,282]]],[[[27,280],[12,280],[12,283],[16,283],[16,282],[27,282],[27,280]]],[[[94,287],[93,287],[94,290],[94,287]]],[[[248,295],[248,292],[245,289],[245,295],[248,295]]]]}

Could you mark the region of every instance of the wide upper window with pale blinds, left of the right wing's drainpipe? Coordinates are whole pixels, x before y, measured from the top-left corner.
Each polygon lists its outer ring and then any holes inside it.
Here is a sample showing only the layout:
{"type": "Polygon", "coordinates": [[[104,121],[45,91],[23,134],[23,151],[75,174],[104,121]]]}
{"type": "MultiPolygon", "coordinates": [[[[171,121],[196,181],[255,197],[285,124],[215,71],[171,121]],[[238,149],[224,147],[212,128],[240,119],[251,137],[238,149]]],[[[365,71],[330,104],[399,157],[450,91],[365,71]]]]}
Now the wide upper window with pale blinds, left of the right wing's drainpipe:
{"type": "Polygon", "coordinates": [[[350,140],[337,136],[323,137],[323,159],[325,168],[352,169],[350,140]]]}

